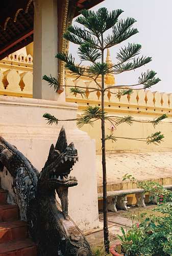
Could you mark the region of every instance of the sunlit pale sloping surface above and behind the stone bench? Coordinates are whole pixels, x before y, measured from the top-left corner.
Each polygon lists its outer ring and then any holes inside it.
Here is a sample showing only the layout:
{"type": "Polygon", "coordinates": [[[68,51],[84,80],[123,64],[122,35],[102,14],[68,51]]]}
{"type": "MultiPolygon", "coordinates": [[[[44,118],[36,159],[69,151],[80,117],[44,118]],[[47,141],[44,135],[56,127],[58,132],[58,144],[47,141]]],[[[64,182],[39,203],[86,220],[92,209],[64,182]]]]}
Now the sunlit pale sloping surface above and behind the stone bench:
{"type": "MultiPolygon", "coordinates": [[[[136,179],[172,177],[172,152],[107,154],[107,183],[121,183],[122,176],[136,179]]],[[[96,156],[97,186],[102,185],[102,156],[96,156]]]]}

